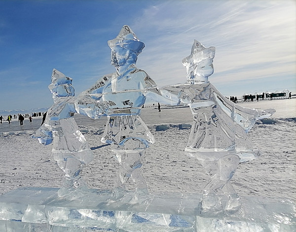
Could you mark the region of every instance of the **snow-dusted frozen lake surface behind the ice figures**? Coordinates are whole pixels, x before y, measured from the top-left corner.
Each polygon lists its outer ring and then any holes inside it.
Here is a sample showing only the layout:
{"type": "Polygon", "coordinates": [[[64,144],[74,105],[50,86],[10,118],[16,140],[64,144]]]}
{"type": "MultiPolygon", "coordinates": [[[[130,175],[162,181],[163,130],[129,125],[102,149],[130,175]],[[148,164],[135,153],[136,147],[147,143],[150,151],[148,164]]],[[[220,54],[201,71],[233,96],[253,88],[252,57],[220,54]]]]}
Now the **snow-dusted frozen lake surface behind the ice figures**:
{"type": "MultiPolygon", "coordinates": [[[[296,99],[241,102],[249,108],[275,108],[271,120],[259,121],[248,134],[262,155],[238,167],[232,184],[241,196],[296,200],[296,99]]],[[[148,148],[143,173],[151,192],[201,193],[209,176],[199,162],[184,154],[189,130],[179,125],[192,122],[188,107],[145,107],[142,119],[155,136],[148,148]],[[170,125],[156,131],[157,125],[170,125]]],[[[100,142],[106,118],[92,120],[75,115],[76,122],[94,152],[94,160],[83,169],[83,178],[93,189],[112,189],[119,167],[110,146],[100,142]]],[[[0,124],[0,194],[19,187],[61,187],[63,172],[51,158],[52,145],[43,146],[32,134],[41,117],[0,124]]],[[[131,184],[129,188],[133,188],[131,184]]]]}

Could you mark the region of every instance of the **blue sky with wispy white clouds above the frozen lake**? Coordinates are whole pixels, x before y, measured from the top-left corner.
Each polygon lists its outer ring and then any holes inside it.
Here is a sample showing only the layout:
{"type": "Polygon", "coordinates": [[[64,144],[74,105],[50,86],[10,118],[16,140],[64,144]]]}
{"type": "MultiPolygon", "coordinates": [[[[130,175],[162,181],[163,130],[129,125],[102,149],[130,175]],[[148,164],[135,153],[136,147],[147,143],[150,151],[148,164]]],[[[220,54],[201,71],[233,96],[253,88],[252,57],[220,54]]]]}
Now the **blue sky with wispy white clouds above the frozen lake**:
{"type": "Polygon", "coordinates": [[[115,71],[107,44],[129,25],[137,67],[184,83],[193,40],[216,47],[209,80],[225,96],[296,93],[295,0],[0,0],[0,110],[49,107],[53,68],[76,95],[115,71]]]}

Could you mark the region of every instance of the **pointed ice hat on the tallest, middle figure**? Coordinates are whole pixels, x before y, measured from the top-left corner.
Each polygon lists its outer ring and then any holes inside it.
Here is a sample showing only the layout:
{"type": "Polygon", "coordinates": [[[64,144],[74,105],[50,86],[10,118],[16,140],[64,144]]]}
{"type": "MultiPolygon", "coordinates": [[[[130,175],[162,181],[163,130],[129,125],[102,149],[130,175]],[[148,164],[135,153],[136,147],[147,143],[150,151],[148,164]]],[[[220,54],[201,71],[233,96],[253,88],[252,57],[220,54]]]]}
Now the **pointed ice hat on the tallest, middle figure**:
{"type": "Polygon", "coordinates": [[[140,54],[145,47],[136,34],[128,25],[124,25],[116,38],[108,40],[108,45],[112,49],[115,46],[120,46],[131,50],[135,54],[140,54]]]}

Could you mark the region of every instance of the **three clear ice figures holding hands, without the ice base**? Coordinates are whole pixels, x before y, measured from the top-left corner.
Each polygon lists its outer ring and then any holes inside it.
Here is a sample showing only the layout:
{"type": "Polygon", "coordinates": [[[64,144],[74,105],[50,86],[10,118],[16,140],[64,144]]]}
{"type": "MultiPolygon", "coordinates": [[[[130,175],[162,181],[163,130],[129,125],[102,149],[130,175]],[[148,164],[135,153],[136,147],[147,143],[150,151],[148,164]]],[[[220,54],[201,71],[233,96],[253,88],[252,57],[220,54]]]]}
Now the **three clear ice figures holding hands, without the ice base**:
{"type": "Polygon", "coordinates": [[[210,175],[201,199],[202,212],[237,211],[240,198],[229,180],[239,163],[259,156],[258,148],[246,133],[256,120],[269,117],[274,110],[247,109],[223,97],[208,80],[214,72],[215,48],[206,48],[197,40],[191,54],[183,59],[186,83],[163,88],[158,88],[144,70],[136,67],[145,45],[129,26],[123,26],[108,45],[116,71],[104,75],[76,98],[72,79],[56,69],[52,72],[49,89],[54,104],[35,137],[45,145],[53,141],[53,157],[65,172],[65,186],[58,195],[71,198],[83,195],[87,189],[80,175],[93,155],[74,121],[74,113],[79,113],[93,119],[107,117],[101,141],[111,144],[120,164],[110,200],[149,201],[141,166],[146,149],[155,139],[140,113],[146,99],[151,98],[165,104],[190,106],[193,122],[185,154],[198,159],[210,175]],[[136,185],[132,198],[125,194],[129,179],[136,185]]]}

